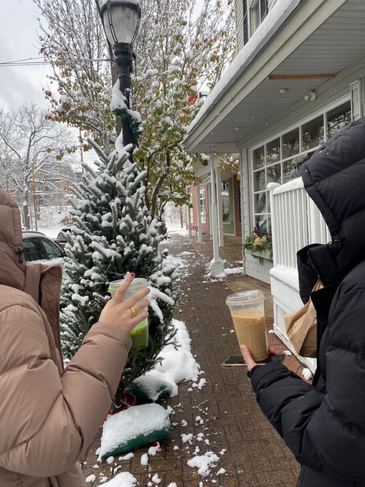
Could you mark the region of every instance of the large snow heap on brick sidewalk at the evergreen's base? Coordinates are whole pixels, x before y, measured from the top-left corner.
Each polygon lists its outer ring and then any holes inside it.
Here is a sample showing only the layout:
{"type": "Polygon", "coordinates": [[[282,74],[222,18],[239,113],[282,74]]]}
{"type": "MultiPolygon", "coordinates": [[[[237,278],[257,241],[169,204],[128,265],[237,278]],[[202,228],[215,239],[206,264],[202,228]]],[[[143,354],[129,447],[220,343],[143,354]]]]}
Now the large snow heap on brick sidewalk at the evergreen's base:
{"type": "MultiPolygon", "coordinates": [[[[196,382],[200,374],[200,366],[190,351],[191,339],[185,324],[179,320],[173,320],[172,324],[177,331],[175,341],[178,348],[175,348],[174,345],[163,348],[159,354],[159,357],[163,359],[162,363],[135,381],[152,401],[157,400],[158,391],[162,385],[170,389],[170,397],[174,397],[178,394],[179,382],[189,380],[196,382]]],[[[200,379],[200,382],[202,380],[200,379]]],[[[200,384],[200,389],[202,385],[204,384],[200,384]]]]}

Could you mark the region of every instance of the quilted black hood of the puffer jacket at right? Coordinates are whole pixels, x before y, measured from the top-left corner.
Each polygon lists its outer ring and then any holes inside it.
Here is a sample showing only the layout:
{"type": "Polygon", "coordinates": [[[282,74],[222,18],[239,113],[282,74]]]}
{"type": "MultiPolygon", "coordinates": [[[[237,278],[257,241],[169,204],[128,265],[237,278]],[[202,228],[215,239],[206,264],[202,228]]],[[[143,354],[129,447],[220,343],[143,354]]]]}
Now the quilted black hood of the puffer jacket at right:
{"type": "MultiPolygon", "coordinates": [[[[323,252],[343,278],[365,259],[365,117],[327,140],[301,174],[332,236],[323,252]]],[[[321,276],[321,262],[316,267],[321,276]]]]}

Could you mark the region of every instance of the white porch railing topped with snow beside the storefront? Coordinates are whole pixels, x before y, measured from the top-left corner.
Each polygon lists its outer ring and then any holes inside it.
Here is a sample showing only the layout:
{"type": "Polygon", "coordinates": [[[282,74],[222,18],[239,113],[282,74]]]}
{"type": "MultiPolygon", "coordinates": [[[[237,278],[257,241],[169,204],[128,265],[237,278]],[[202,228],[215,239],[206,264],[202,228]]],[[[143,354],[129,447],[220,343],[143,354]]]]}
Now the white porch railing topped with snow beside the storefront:
{"type": "MultiPolygon", "coordinates": [[[[296,254],[305,245],[326,243],[331,237],[321,213],[304,190],[302,178],[281,186],[271,183],[268,189],[274,263],[270,271],[274,332],[297,355],[288,339],[284,322],[286,314],[303,306],[296,254]]],[[[315,370],[315,359],[299,358],[312,372],[315,370]]]]}

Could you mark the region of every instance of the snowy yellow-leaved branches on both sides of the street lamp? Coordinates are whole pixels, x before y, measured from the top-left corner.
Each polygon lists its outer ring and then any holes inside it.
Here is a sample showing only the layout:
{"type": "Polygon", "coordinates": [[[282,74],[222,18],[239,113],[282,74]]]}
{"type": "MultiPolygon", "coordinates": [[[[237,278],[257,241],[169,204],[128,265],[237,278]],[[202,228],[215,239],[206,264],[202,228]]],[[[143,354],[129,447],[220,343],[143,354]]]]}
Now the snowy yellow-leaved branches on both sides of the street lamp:
{"type": "MultiPolygon", "coordinates": [[[[45,90],[53,116],[80,127],[85,135],[92,133],[108,153],[116,135],[111,108],[123,108],[124,100],[118,96],[115,70],[99,61],[113,57],[96,6],[100,1],[34,1],[47,23],[40,24],[40,43],[52,63],[51,82],[58,90],[52,85],[45,90]]],[[[206,164],[204,157],[186,153],[183,138],[202,106],[199,91],[212,89],[233,59],[234,3],[140,0],[139,4],[142,17],[134,43],[130,120],[136,121],[132,129],[140,131],[134,160],[145,171],[144,203],[152,214],[160,215],[167,201],[188,201],[186,187],[196,182],[192,164],[197,159],[206,164]]],[[[222,159],[229,165],[228,158],[222,159]]]]}

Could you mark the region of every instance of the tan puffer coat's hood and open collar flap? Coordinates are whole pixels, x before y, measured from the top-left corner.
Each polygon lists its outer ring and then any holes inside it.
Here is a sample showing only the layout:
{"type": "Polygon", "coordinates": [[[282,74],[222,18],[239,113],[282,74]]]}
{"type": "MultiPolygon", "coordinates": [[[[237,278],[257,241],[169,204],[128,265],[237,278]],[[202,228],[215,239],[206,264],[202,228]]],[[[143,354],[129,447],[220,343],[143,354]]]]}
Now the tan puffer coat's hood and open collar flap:
{"type": "Polygon", "coordinates": [[[60,294],[62,270],[58,265],[26,265],[20,210],[13,198],[0,189],[0,284],[30,294],[51,324],[57,348],[60,342],[60,294]],[[18,252],[18,253],[17,253],[18,252]]]}

